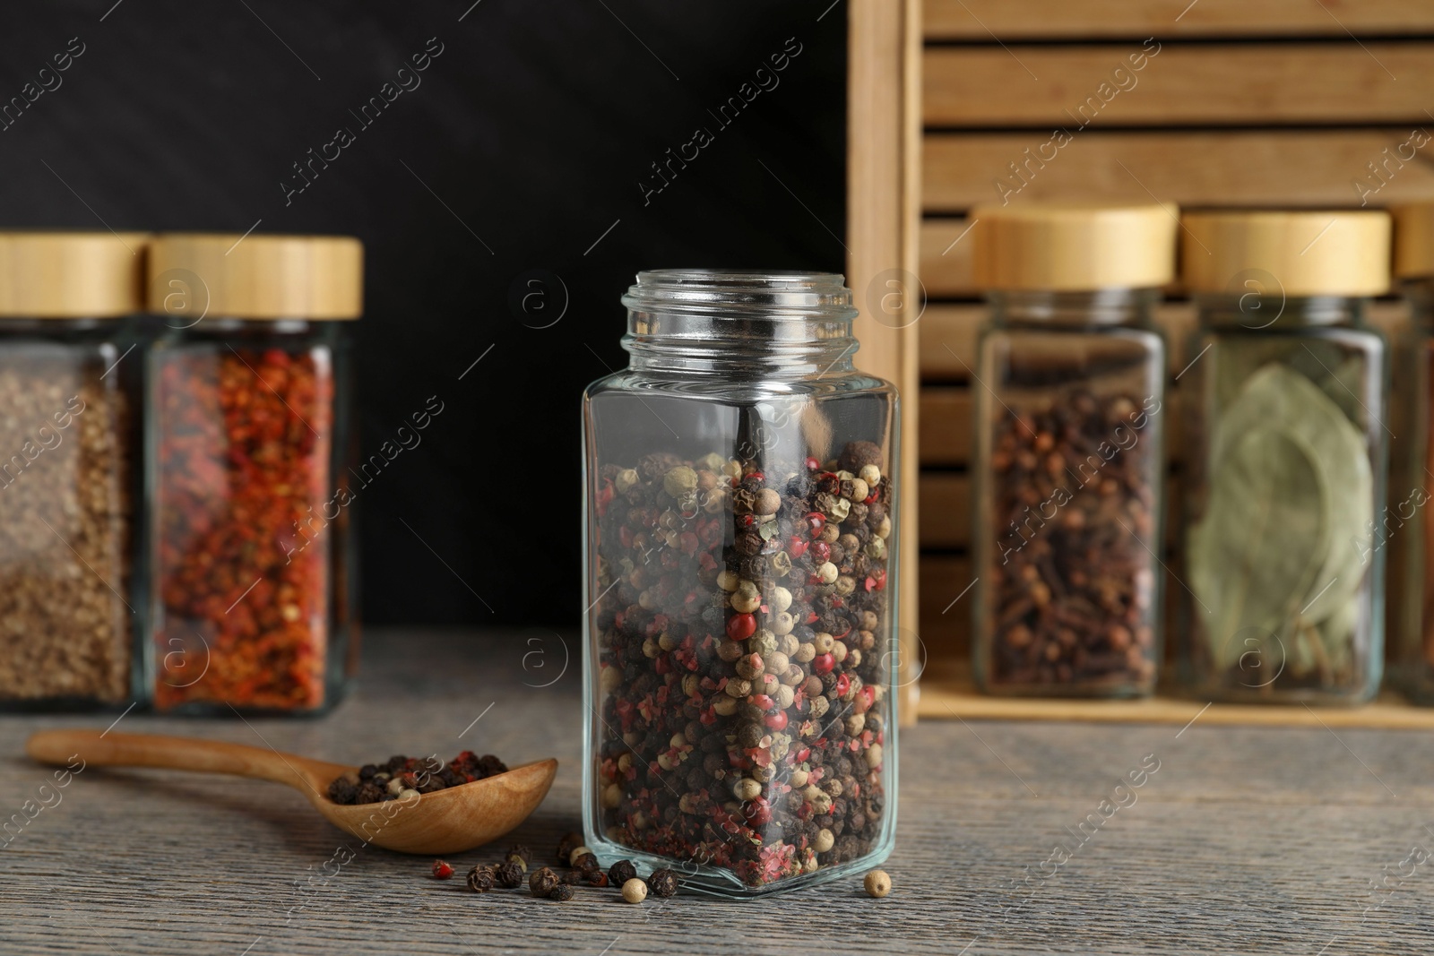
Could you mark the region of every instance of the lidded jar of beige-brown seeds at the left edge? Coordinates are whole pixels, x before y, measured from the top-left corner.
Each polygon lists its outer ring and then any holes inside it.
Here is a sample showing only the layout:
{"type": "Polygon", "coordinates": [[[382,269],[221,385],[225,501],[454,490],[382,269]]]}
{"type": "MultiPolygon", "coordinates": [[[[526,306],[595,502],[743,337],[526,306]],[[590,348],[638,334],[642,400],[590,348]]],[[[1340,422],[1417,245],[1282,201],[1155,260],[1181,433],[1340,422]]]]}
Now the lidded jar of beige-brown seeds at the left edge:
{"type": "Polygon", "coordinates": [[[0,232],[0,707],[118,705],[136,668],[145,235],[0,232]],[[128,357],[128,361],[125,361],[128,357]]]}

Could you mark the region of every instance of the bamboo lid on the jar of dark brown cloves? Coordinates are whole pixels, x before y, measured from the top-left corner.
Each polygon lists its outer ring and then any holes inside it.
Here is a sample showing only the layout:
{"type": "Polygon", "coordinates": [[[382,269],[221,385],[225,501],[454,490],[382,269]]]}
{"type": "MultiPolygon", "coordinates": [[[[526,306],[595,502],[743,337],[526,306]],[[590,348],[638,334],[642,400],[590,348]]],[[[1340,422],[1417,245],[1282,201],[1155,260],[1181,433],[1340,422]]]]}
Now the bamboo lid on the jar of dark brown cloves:
{"type": "Polygon", "coordinates": [[[1080,292],[1174,278],[1176,211],[1159,204],[1031,202],[971,211],[978,288],[1080,292]]]}

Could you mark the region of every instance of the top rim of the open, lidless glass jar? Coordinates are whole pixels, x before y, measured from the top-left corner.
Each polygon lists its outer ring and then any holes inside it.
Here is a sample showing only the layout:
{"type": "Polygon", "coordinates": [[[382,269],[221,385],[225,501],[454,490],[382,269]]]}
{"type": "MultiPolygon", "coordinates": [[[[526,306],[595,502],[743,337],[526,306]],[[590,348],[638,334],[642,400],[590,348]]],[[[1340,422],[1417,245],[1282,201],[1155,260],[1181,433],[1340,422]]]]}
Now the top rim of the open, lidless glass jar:
{"type": "Polygon", "coordinates": [[[634,312],[721,312],[770,321],[852,321],[858,315],[839,272],[799,269],[645,269],[622,304],[634,312]]]}

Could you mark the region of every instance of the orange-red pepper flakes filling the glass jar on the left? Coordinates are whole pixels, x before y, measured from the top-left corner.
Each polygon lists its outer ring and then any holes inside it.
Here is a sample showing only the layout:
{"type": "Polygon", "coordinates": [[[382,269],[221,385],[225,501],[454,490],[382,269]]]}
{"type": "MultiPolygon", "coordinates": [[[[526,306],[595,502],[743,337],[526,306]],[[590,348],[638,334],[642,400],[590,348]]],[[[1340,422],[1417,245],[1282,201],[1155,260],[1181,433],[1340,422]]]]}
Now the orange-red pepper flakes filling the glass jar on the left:
{"type": "Polygon", "coordinates": [[[331,361],[280,348],[155,354],[155,705],[318,708],[331,611],[321,517],[333,496],[331,361]],[[192,679],[201,654],[206,668],[192,679]]]}

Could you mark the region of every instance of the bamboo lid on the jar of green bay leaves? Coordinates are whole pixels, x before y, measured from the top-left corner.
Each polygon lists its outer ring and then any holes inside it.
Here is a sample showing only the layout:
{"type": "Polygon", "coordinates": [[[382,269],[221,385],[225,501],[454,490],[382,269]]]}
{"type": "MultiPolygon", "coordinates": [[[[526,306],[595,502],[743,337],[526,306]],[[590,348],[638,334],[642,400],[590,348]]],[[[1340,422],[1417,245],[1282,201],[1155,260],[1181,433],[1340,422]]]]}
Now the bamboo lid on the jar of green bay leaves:
{"type": "Polygon", "coordinates": [[[1258,272],[1283,295],[1380,295],[1390,290],[1390,215],[1382,211],[1187,212],[1182,278],[1192,292],[1248,291],[1258,272]]]}

